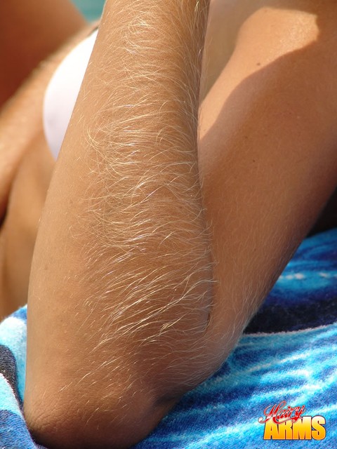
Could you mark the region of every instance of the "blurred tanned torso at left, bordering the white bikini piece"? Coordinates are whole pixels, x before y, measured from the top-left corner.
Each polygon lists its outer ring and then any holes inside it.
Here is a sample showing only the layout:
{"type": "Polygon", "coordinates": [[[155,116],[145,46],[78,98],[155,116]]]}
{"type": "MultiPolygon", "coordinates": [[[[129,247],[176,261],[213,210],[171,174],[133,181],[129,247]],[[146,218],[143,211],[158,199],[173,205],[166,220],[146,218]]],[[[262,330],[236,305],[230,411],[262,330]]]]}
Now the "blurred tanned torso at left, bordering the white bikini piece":
{"type": "Polygon", "coordinates": [[[63,58],[95,25],[49,57],[0,112],[0,316],[27,302],[32,252],[54,161],[44,138],[44,93],[63,58]]]}

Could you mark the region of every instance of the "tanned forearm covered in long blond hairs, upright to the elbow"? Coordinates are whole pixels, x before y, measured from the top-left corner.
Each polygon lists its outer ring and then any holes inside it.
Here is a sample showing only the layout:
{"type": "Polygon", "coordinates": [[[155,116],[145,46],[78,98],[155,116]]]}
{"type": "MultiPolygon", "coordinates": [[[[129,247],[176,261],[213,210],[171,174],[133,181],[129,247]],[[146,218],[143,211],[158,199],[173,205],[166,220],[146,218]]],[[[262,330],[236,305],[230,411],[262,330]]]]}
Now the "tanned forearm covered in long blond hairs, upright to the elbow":
{"type": "Polygon", "coordinates": [[[41,441],[65,447],[67,434],[75,447],[81,429],[93,447],[135,443],[211,370],[197,170],[206,6],[105,7],[34,254],[25,412],[41,441]]]}

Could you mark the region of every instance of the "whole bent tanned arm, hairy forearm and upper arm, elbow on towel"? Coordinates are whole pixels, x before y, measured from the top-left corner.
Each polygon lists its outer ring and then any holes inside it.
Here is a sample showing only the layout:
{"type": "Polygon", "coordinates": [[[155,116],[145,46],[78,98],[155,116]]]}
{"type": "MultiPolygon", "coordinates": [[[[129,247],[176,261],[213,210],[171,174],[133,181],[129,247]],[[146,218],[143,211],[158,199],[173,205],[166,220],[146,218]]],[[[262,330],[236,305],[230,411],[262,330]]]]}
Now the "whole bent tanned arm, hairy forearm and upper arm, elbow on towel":
{"type": "Polygon", "coordinates": [[[55,448],[144,438],[223,363],[336,189],[337,8],[239,2],[198,144],[207,2],[128,3],[107,1],[30,275],[25,417],[55,448]]]}

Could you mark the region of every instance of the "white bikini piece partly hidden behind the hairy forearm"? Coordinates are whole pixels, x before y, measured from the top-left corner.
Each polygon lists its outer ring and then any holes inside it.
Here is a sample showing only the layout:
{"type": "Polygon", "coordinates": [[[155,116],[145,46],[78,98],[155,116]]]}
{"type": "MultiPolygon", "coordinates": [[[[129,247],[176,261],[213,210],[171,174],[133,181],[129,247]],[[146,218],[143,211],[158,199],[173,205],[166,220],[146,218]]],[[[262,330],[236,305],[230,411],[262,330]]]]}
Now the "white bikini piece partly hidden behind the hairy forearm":
{"type": "Polygon", "coordinates": [[[55,159],[65,137],[93,51],[97,30],[72,49],[49,81],[44,95],[44,133],[55,159]]]}

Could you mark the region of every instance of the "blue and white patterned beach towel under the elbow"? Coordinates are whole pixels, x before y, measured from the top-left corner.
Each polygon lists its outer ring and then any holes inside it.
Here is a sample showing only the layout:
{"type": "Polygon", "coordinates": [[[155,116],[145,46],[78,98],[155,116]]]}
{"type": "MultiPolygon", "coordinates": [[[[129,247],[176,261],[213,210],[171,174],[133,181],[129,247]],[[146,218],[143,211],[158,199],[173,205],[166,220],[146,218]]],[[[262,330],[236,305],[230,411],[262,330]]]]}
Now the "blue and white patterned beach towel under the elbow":
{"type": "MultiPolygon", "coordinates": [[[[222,368],[185,394],[135,448],[336,448],[336,302],[332,229],[303,241],[222,368]],[[258,418],[282,401],[284,408],[305,406],[303,416],[324,417],[325,438],[264,440],[267,424],[258,418]]],[[[22,417],[26,312],[23,307],[0,325],[1,449],[41,448],[22,417]]]]}

